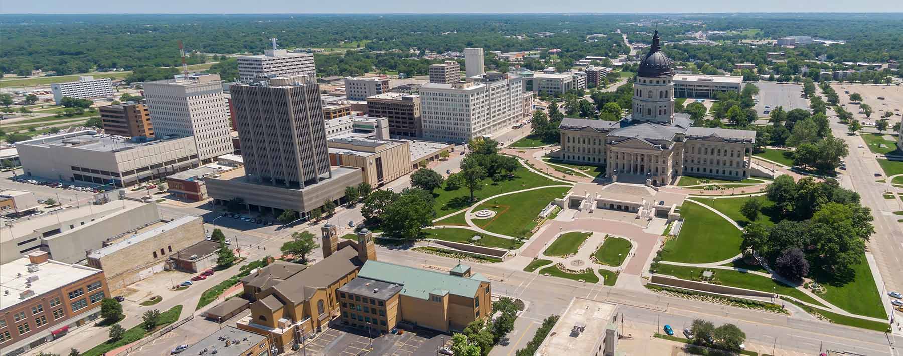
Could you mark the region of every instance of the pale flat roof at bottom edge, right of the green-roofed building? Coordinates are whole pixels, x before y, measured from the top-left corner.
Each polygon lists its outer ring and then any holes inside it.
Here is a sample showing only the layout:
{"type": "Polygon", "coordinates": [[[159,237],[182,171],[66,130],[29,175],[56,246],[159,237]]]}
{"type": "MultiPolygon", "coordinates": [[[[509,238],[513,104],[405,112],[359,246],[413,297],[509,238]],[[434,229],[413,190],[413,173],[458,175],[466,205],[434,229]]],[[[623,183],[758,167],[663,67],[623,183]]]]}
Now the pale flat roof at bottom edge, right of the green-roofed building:
{"type": "Polygon", "coordinates": [[[617,310],[618,304],[574,297],[552,332],[536,350],[536,355],[596,354],[600,339],[605,337],[605,331],[617,310]],[[581,333],[573,333],[574,326],[584,329],[581,333]]]}

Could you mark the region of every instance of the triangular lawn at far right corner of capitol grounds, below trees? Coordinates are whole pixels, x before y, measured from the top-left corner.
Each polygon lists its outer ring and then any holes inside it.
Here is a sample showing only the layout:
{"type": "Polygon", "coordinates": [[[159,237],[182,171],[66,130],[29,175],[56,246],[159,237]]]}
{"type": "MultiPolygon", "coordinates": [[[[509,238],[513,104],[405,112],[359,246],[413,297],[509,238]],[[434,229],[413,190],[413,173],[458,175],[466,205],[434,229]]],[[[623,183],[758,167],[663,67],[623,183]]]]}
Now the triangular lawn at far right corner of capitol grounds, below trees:
{"type": "Polygon", "coordinates": [[[824,286],[825,293],[821,296],[828,303],[850,312],[871,316],[873,318],[886,318],[884,305],[881,302],[878,286],[871,276],[869,262],[862,255],[860,263],[852,266],[855,277],[852,282],[839,284],[833,282],[833,276],[815,275],[815,281],[824,286]]]}

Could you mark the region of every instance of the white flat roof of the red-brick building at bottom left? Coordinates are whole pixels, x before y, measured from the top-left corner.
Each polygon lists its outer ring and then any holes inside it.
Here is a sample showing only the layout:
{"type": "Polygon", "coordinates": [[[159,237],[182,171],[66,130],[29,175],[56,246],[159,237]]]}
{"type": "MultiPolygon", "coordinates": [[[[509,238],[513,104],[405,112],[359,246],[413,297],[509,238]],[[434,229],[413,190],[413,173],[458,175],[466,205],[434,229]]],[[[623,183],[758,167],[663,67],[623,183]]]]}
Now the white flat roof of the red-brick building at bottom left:
{"type": "MultiPolygon", "coordinates": [[[[46,252],[44,252],[46,253],[46,252]]],[[[18,258],[0,266],[0,289],[9,291],[9,295],[0,294],[0,305],[8,309],[15,304],[36,298],[51,292],[61,286],[69,285],[79,279],[96,275],[102,272],[99,269],[76,264],[62,263],[52,259],[38,265],[38,270],[29,272],[28,266],[32,262],[29,258],[18,258]],[[37,279],[34,279],[34,278],[37,279]],[[29,282],[29,278],[32,279],[29,282]],[[25,286],[31,285],[31,286],[25,286]],[[31,296],[21,297],[20,293],[31,290],[31,296]]]]}

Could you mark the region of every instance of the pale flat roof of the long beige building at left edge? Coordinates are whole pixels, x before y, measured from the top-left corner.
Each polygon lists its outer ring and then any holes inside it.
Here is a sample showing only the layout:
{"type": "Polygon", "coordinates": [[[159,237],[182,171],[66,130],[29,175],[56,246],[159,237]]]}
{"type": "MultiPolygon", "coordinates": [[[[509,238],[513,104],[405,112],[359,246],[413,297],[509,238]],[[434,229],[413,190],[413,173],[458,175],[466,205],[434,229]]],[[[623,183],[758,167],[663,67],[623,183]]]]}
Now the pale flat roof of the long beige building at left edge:
{"type": "MultiPolygon", "coordinates": [[[[23,237],[25,235],[33,233],[35,230],[40,230],[50,226],[59,226],[60,221],[69,221],[79,219],[80,217],[88,216],[91,214],[97,214],[98,212],[116,212],[116,211],[128,211],[135,209],[139,206],[144,205],[142,201],[132,201],[132,200],[116,200],[109,201],[106,204],[93,204],[88,206],[87,204],[81,204],[81,206],[72,206],[70,208],[61,209],[57,211],[48,211],[40,214],[34,214],[27,217],[23,217],[19,220],[7,221],[4,229],[0,229],[0,242],[6,241],[9,239],[14,239],[14,237],[23,237]],[[125,204],[125,208],[123,205],[125,204]]],[[[107,215],[108,216],[108,215],[107,215]]],[[[98,220],[91,221],[85,223],[85,225],[80,227],[85,227],[98,220]]],[[[80,227],[76,227],[79,229],[80,227]]],[[[120,231],[110,231],[111,233],[119,233],[120,231]]],[[[61,235],[61,234],[58,234],[61,235]]],[[[58,236],[54,235],[54,236],[58,236]]],[[[53,236],[48,237],[47,239],[53,239],[53,236]]]]}

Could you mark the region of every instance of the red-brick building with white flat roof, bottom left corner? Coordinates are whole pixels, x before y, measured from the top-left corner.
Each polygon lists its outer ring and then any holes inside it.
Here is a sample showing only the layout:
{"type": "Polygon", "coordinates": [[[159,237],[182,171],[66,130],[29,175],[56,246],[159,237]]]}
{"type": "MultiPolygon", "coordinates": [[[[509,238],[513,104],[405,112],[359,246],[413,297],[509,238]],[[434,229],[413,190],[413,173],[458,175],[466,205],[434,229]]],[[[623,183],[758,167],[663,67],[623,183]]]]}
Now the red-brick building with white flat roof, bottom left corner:
{"type": "Polygon", "coordinates": [[[0,265],[0,354],[19,355],[97,320],[104,272],[33,251],[0,265]]]}

